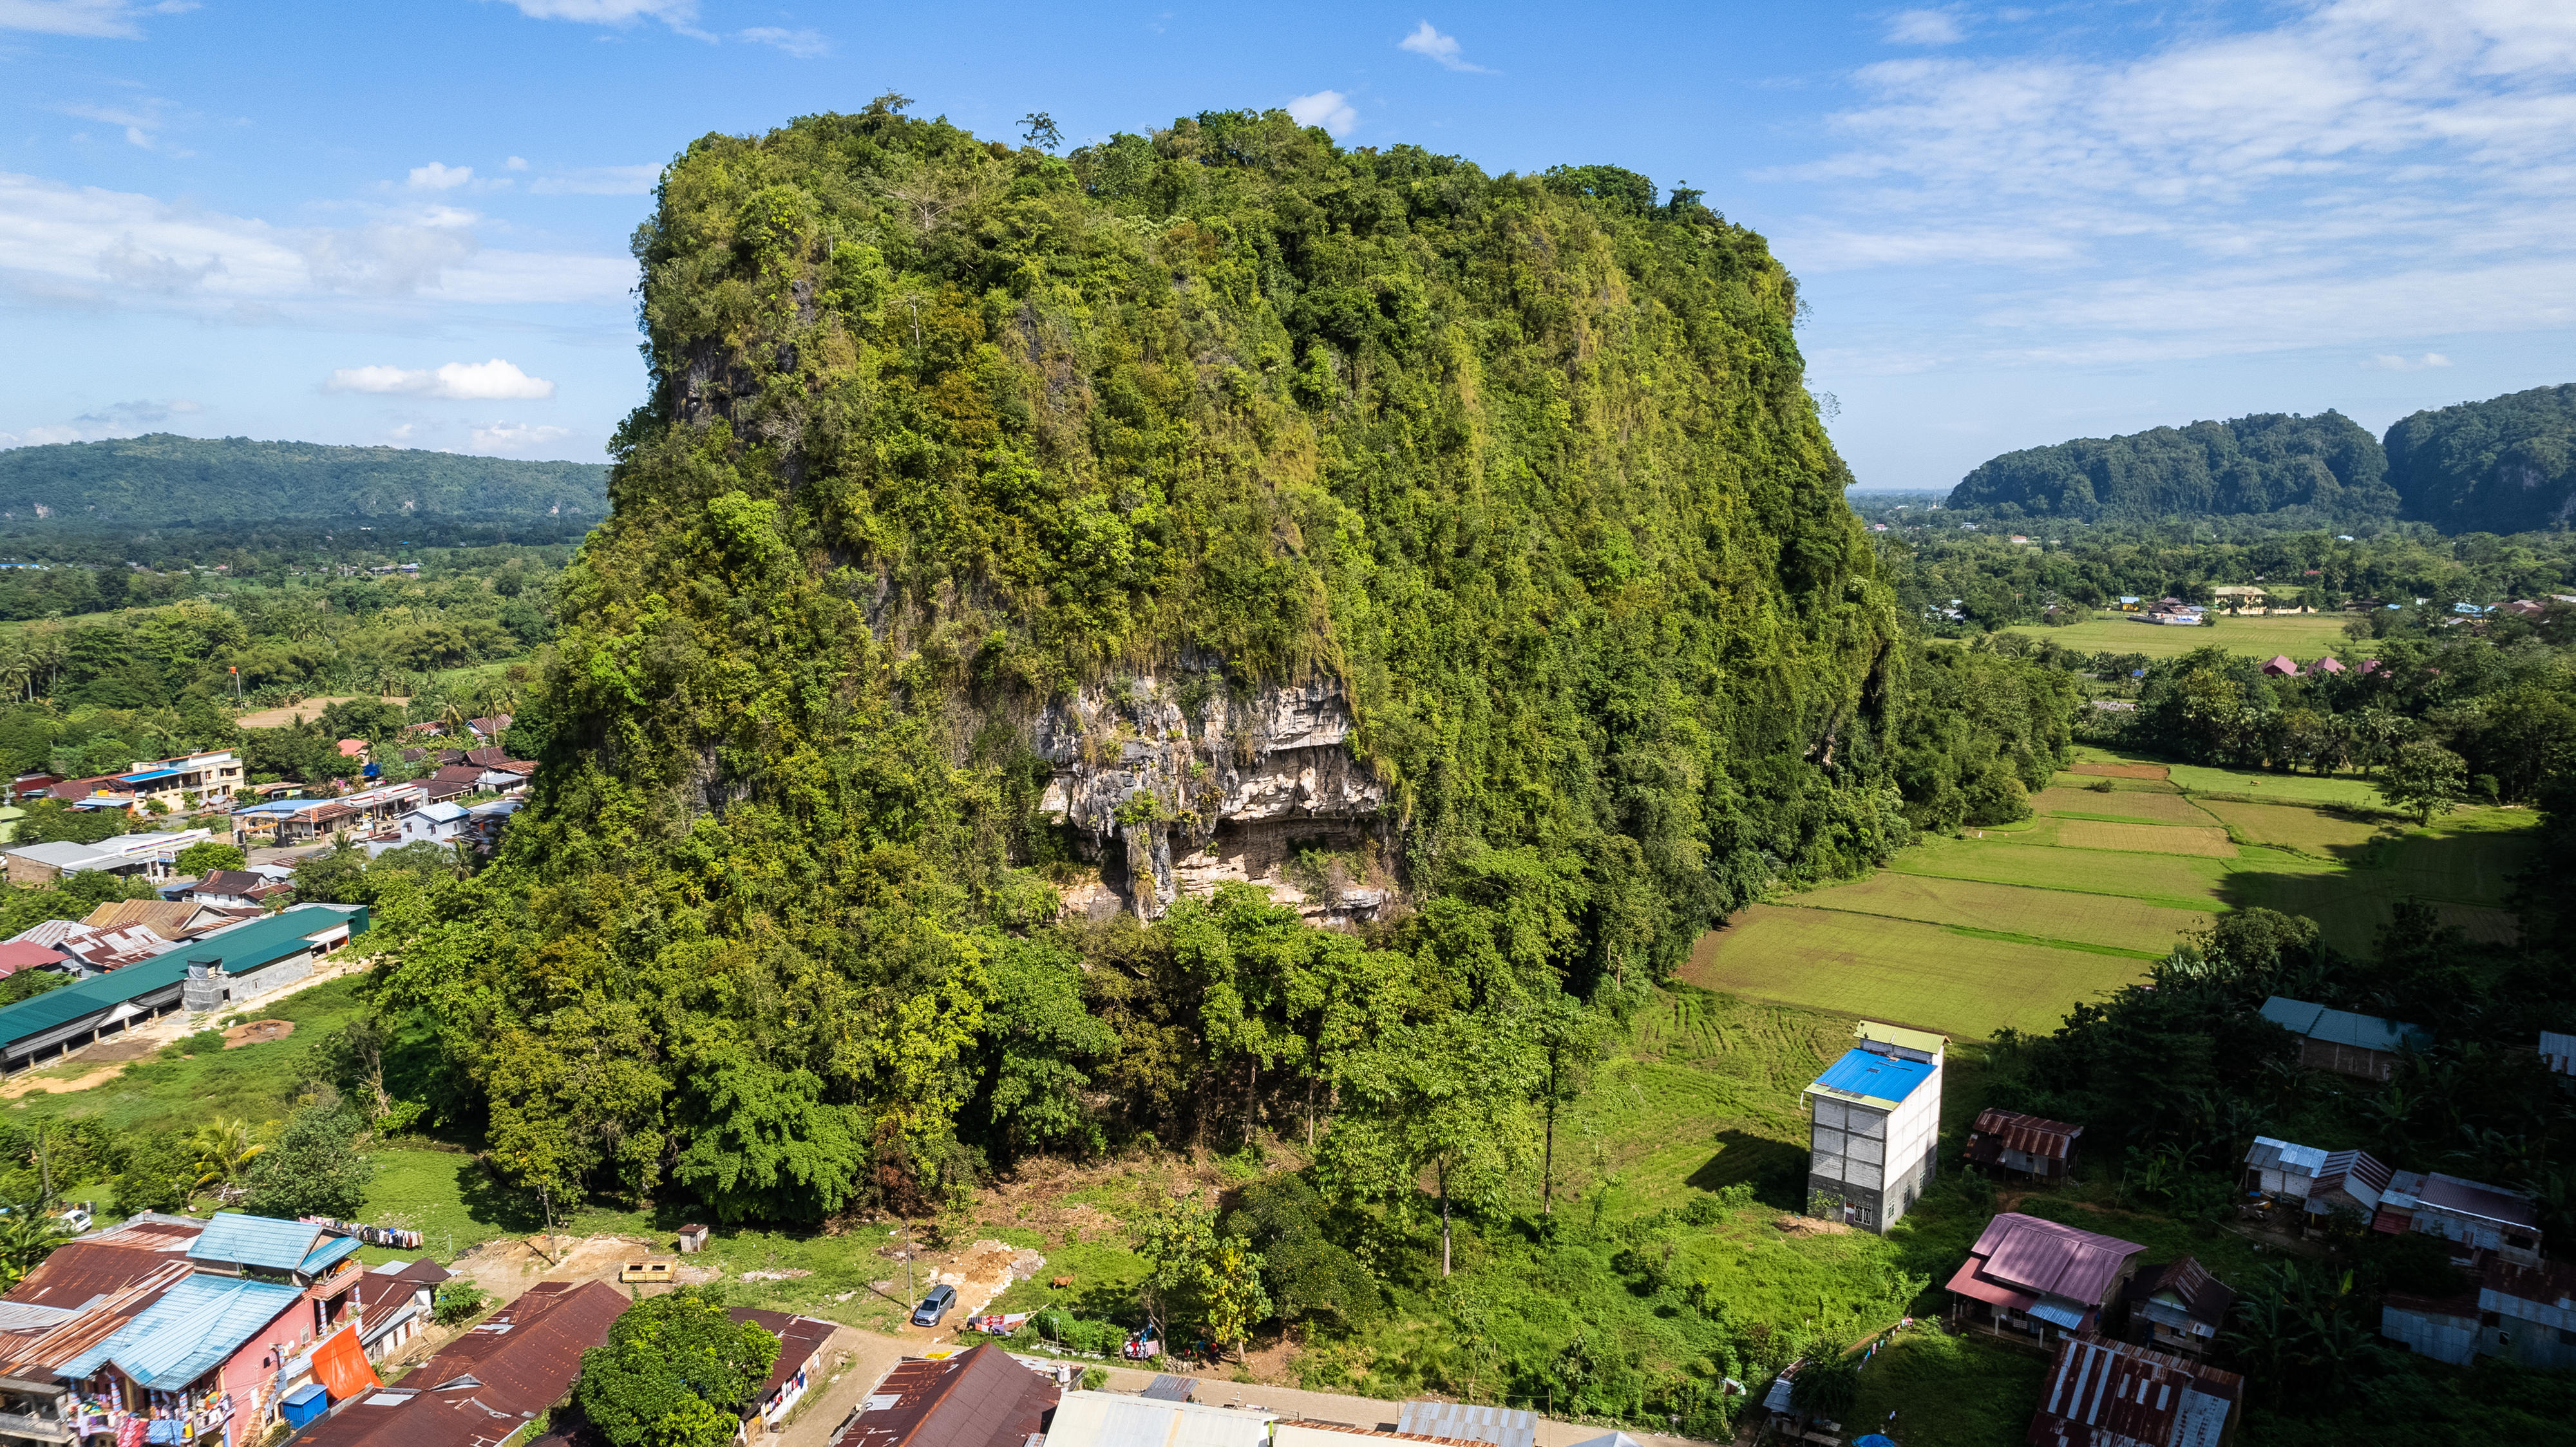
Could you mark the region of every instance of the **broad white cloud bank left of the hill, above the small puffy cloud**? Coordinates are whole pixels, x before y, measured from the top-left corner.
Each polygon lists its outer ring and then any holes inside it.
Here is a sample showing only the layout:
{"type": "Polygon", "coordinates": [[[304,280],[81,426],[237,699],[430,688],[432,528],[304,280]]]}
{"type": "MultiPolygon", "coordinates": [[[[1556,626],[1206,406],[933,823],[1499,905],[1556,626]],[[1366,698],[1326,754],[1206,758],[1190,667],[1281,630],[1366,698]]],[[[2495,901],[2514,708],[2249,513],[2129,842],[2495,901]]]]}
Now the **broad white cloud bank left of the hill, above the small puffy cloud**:
{"type": "Polygon", "coordinates": [[[469,211],[273,227],[129,191],[0,173],[0,299],[198,314],[417,312],[428,304],[608,304],[613,255],[484,250],[469,211]]]}

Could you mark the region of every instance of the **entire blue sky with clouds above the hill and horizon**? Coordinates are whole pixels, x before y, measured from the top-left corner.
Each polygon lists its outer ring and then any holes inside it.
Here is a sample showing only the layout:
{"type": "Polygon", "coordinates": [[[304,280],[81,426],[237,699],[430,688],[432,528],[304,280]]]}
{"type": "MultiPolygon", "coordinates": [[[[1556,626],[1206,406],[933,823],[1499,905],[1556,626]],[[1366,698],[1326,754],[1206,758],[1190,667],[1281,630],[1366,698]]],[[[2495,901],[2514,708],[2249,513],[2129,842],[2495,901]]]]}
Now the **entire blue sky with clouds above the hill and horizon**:
{"type": "Polygon", "coordinates": [[[2576,381],[2566,0],[0,0],[0,445],[595,461],[644,386],[659,162],[881,90],[1010,139],[1288,106],[1687,180],[1801,275],[1862,487],[2576,381]]]}

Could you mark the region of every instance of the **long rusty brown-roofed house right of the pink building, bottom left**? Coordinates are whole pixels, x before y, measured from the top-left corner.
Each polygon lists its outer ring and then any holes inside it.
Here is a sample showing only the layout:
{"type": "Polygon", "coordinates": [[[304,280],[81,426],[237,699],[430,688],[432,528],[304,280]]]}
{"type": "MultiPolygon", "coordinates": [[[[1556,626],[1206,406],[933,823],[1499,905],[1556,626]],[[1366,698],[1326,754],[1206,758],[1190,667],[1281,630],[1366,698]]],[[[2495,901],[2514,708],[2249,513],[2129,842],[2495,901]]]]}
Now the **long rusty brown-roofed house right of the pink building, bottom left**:
{"type": "Polygon", "coordinates": [[[536,1282],[402,1385],[353,1393],[286,1447],[500,1447],[572,1396],[582,1352],[608,1341],[626,1305],[608,1282],[536,1282]]]}

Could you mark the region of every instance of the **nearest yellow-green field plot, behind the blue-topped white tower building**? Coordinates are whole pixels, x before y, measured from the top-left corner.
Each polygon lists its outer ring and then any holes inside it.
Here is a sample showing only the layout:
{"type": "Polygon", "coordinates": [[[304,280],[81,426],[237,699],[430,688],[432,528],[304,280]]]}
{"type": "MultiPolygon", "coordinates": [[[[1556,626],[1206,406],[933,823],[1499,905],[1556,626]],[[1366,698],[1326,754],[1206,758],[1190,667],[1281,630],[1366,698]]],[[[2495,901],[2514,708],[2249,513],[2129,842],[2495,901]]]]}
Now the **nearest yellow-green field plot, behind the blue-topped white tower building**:
{"type": "Polygon", "coordinates": [[[1839,1009],[1991,1038],[2048,1032],[2079,999],[2130,984],[2143,960],[1981,940],[1942,924],[1757,904],[1700,937],[1682,981],[1703,989],[1839,1009]]]}

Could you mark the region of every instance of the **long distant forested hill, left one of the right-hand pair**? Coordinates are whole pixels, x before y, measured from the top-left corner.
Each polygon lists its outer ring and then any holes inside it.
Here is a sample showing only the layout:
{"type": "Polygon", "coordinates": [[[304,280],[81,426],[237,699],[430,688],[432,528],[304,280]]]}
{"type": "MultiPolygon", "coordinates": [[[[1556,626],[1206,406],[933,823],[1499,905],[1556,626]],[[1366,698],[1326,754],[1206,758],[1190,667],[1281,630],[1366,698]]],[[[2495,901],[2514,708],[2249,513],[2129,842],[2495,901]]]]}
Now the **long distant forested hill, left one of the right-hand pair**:
{"type": "Polygon", "coordinates": [[[2290,507],[2388,518],[2398,494],[2385,474],[2378,438],[2342,412],[2267,412],[2004,453],[1971,471],[1950,492],[1950,507],[2012,505],[2087,520],[2290,507]]]}

